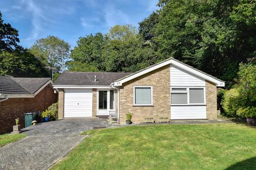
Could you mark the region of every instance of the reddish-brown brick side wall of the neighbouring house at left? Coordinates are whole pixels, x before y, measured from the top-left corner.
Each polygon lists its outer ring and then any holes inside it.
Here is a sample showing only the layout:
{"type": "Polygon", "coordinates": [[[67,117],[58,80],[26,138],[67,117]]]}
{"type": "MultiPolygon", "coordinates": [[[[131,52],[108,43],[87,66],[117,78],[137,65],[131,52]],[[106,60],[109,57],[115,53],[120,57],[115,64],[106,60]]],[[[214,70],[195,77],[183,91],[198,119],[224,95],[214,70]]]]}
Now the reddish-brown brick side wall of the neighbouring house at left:
{"type": "Polygon", "coordinates": [[[12,131],[15,118],[20,119],[24,127],[24,113],[45,111],[52,103],[57,102],[57,94],[50,85],[46,86],[34,98],[9,98],[0,102],[0,133],[12,131]]]}

